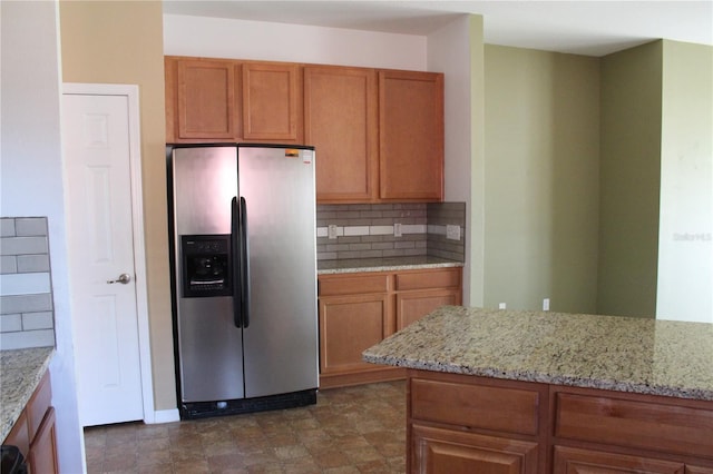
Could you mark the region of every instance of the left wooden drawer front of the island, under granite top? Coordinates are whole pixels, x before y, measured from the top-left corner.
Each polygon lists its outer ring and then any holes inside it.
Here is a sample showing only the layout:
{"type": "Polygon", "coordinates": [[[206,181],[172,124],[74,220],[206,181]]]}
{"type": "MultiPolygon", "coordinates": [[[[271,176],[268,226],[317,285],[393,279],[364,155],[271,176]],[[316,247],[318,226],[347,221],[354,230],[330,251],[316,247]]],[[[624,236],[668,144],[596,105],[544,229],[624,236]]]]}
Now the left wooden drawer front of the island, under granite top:
{"type": "Polygon", "coordinates": [[[413,378],[411,416],[506,433],[537,435],[539,392],[413,378]]]}

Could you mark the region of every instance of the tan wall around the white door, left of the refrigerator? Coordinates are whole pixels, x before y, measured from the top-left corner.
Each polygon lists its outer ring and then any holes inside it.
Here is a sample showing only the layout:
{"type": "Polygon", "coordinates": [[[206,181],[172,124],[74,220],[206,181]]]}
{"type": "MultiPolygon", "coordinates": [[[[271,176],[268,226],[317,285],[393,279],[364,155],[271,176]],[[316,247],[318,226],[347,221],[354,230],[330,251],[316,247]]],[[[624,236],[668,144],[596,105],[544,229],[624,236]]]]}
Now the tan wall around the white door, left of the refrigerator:
{"type": "Polygon", "coordinates": [[[159,1],[60,1],[62,81],[139,86],[154,405],[176,408],[159,1]]]}

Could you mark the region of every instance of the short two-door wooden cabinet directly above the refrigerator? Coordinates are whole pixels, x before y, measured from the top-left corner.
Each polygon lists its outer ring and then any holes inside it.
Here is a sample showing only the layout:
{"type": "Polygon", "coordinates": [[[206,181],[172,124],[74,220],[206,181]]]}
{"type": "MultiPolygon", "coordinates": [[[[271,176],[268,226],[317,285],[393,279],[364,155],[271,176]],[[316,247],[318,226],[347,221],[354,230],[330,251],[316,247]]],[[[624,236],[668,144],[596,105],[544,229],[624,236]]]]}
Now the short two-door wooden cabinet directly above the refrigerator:
{"type": "Polygon", "coordinates": [[[166,141],[300,144],[297,65],[166,57],[166,141]]]}

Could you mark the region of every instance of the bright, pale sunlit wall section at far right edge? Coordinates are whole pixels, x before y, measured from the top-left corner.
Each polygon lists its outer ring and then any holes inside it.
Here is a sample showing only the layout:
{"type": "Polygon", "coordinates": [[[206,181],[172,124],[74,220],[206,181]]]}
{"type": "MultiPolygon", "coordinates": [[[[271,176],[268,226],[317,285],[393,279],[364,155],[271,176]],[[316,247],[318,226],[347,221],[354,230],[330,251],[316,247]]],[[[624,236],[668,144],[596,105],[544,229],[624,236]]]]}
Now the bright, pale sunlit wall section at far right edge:
{"type": "Polygon", "coordinates": [[[713,323],[713,47],[663,48],[656,317],[713,323]]]}

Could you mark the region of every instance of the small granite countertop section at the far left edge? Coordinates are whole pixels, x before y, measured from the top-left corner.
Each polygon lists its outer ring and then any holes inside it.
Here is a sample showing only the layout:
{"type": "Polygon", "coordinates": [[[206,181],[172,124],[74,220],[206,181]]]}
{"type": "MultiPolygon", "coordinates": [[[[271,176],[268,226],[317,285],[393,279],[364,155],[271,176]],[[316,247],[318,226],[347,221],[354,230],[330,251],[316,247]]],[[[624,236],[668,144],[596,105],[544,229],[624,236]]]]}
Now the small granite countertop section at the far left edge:
{"type": "Polygon", "coordinates": [[[0,350],[0,440],[10,434],[53,354],[53,347],[0,350]]]}

